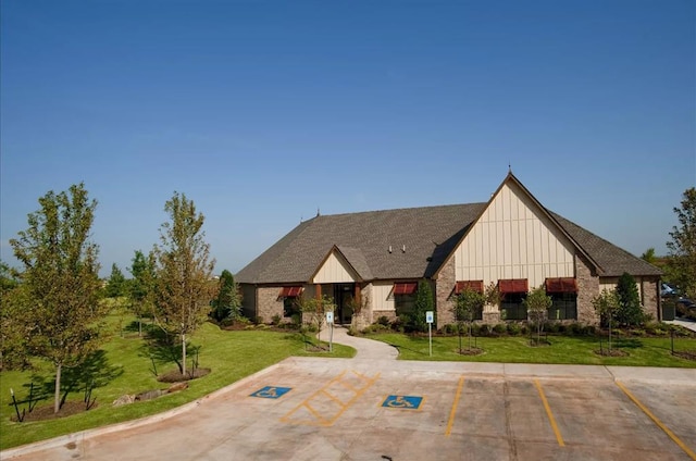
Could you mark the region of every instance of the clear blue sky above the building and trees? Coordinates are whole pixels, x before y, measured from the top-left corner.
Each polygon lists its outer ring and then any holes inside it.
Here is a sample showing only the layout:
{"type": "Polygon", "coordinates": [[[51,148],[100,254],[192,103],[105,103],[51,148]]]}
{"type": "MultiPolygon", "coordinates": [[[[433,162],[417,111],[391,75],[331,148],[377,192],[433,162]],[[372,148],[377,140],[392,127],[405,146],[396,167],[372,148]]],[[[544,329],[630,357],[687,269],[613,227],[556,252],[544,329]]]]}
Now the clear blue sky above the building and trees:
{"type": "Polygon", "coordinates": [[[488,200],[666,253],[696,185],[696,2],[0,3],[0,257],[48,190],[127,274],[175,190],[216,271],[316,214],[488,200]]]}

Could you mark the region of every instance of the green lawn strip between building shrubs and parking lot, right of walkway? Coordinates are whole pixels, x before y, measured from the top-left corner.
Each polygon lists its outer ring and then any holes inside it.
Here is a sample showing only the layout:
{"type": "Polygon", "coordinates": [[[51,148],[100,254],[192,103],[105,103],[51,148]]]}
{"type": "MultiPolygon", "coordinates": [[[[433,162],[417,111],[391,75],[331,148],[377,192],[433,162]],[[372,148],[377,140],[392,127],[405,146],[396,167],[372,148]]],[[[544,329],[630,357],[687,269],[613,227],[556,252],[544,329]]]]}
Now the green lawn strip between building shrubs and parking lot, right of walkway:
{"type": "MultiPolygon", "coordinates": [[[[696,361],[671,354],[668,337],[614,338],[612,348],[626,352],[625,357],[602,357],[595,353],[599,349],[599,339],[591,336],[549,336],[550,345],[538,347],[530,346],[530,338],[524,336],[480,337],[476,338],[476,347],[483,349],[483,353],[478,356],[460,354],[457,336],[435,336],[432,357],[428,354],[427,336],[383,333],[366,337],[397,347],[401,360],[696,367],[696,361]]],[[[463,337],[462,347],[468,346],[469,338],[463,337]]],[[[607,347],[606,338],[604,347],[607,347]]],[[[675,338],[674,349],[695,351],[696,339],[675,338]]]]}

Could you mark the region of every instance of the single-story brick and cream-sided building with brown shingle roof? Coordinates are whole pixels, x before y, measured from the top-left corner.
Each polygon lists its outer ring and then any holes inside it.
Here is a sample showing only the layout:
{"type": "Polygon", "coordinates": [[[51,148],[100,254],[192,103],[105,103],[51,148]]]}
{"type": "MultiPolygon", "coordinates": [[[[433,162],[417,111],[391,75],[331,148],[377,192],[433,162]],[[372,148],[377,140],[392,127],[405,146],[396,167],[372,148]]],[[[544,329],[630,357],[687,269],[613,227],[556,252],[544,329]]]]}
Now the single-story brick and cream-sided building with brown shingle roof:
{"type": "Polygon", "coordinates": [[[437,327],[453,322],[455,296],[496,284],[500,306],[482,321],[526,320],[525,294],[544,286],[549,317],[596,324],[592,299],[624,272],[636,278],[646,313],[659,319],[661,272],[547,210],[510,172],[487,203],[318,215],[302,222],[236,281],[244,312],[270,322],[289,316],[298,296],[331,296],[337,323],[394,319],[432,284],[437,327]],[[356,302],[357,301],[357,302],[356,302]]]}

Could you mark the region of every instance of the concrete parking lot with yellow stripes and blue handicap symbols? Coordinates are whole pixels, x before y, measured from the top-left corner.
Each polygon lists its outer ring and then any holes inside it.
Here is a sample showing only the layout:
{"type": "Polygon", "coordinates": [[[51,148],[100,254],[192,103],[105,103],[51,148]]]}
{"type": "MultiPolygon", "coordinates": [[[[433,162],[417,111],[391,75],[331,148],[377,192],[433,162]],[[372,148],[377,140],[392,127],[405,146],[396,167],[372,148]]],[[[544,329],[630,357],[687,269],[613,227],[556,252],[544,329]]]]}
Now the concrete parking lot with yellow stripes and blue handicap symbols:
{"type": "Polygon", "coordinates": [[[291,358],[2,458],[696,460],[695,396],[696,370],[291,358]]]}

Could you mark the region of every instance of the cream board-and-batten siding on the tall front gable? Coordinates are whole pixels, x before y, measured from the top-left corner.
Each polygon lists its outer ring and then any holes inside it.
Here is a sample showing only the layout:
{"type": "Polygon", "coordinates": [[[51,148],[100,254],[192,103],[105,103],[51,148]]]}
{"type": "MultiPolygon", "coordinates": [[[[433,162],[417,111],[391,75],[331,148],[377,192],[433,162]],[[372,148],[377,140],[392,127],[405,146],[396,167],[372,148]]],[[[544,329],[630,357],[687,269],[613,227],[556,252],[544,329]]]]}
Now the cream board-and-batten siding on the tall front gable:
{"type": "Polygon", "coordinates": [[[574,247],[518,186],[505,184],[455,251],[458,281],[574,277],[574,247]]]}

